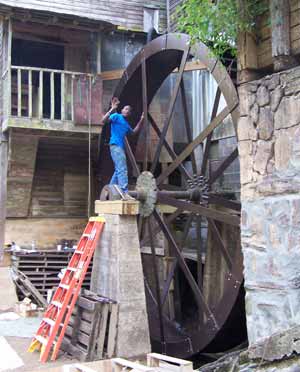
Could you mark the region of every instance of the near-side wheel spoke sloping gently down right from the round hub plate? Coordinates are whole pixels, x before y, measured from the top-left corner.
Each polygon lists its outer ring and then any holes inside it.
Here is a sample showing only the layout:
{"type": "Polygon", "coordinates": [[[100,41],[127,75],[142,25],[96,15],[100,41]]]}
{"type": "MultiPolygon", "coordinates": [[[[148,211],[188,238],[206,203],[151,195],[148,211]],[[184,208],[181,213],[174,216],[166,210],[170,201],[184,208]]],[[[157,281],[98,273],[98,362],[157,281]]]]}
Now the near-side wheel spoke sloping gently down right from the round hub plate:
{"type": "Polygon", "coordinates": [[[158,201],[162,204],[171,205],[175,208],[181,209],[182,211],[190,211],[196,214],[200,214],[203,217],[211,218],[220,222],[225,222],[229,225],[240,225],[240,217],[238,216],[220,212],[211,208],[206,208],[199,204],[193,204],[187,201],[174,199],[165,194],[158,193],[158,201]]]}

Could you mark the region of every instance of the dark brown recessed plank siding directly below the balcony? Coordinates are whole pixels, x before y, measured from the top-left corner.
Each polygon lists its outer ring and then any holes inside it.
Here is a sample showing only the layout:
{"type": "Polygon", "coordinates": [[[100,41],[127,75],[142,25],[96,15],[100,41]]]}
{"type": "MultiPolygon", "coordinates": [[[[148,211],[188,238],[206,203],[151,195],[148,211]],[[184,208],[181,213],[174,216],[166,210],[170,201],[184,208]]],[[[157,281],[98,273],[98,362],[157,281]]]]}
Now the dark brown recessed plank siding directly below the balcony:
{"type": "Polygon", "coordinates": [[[40,140],[32,187],[33,217],[86,216],[87,142],[40,140]]]}

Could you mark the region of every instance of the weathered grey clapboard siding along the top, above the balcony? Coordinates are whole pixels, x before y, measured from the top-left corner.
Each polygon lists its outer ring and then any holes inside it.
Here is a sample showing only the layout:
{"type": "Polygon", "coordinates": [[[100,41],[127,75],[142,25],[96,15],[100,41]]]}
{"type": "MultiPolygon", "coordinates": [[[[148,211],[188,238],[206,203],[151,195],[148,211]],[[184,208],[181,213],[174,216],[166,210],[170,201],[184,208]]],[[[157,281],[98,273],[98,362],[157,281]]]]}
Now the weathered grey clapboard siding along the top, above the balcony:
{"type": "MultiPolygon", "coordinates": [[[[67,14],[106,21],[130,30],[143,30],[145,2],[142,0],[2,0],[0,5],[67,14]]],[[[150,0],[147,7],[160,10],[160,30],[166,27],[166,1],[150,0]]]]}

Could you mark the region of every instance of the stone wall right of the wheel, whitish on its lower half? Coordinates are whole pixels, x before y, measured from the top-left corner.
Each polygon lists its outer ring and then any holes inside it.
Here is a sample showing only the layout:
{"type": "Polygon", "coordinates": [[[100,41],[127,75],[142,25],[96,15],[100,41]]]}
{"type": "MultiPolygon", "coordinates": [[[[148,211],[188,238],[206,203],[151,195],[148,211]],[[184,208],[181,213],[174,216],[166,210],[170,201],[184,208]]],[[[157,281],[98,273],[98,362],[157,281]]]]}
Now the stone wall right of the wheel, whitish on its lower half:
{"type": "Polygon", "coordinates": [[[239,88],[250,345],[300,324],[300,67],[239,88]]]}

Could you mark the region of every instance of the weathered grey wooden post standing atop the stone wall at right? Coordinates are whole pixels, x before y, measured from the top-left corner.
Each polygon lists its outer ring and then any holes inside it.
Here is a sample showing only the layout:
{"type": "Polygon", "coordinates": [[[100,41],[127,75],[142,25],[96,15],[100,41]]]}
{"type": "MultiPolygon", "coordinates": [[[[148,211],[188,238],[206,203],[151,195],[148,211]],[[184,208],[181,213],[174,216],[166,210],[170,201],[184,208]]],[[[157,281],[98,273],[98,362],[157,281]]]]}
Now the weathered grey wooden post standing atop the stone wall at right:
{"type": "Polygon", "coordinates": [[[270,0],[270,13],[274,71],[287,70],[297,65],[291,54],[290,1],[270,0]]]}

